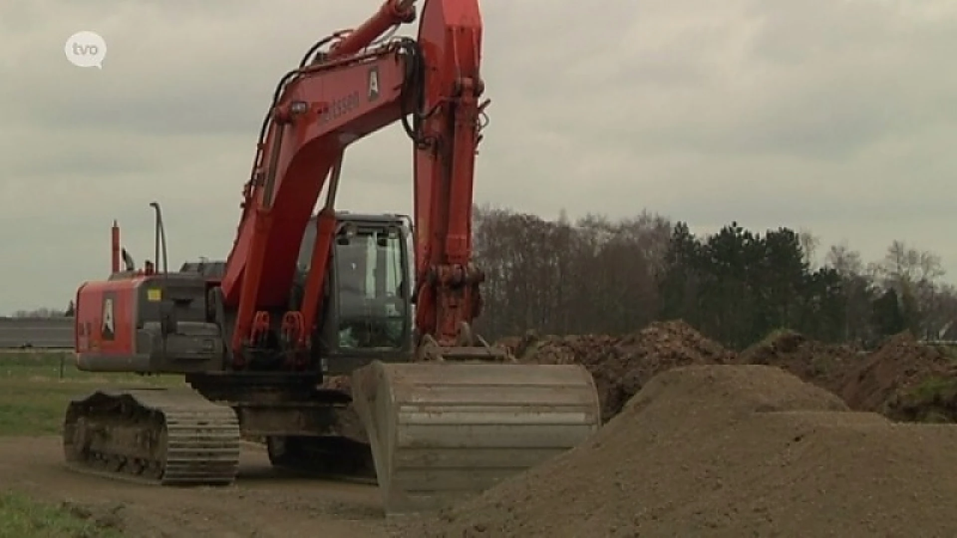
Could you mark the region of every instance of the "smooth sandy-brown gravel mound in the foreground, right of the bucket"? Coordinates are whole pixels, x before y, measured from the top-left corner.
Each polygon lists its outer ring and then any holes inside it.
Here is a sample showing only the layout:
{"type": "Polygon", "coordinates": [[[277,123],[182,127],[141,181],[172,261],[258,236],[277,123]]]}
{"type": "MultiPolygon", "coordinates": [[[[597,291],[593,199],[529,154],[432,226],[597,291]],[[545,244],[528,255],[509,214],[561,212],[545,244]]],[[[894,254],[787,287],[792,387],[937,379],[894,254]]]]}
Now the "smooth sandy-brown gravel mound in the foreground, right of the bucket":
{"type": "Polygon", "coordinates": [[[764,366],[658,375],[585,444],[397,536],[953,536],[957,427],[764,366]]]}

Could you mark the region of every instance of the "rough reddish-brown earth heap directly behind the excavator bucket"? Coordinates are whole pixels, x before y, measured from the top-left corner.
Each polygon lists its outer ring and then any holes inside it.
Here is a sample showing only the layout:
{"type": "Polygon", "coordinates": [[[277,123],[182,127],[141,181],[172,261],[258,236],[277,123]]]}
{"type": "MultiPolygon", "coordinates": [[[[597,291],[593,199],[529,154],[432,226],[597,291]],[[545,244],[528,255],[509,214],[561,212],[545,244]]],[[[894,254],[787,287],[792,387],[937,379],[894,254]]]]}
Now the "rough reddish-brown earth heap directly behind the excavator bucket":
{"type": "Polygon", "coordinates": [[[526,334],[521,341],[509,339],[500,345],[525,363],[584,365],[595,380],[605,421],[658,373],[680,366],[727,364],[733,357],[681,321],[654,323],[627,336],[526,334]]]}

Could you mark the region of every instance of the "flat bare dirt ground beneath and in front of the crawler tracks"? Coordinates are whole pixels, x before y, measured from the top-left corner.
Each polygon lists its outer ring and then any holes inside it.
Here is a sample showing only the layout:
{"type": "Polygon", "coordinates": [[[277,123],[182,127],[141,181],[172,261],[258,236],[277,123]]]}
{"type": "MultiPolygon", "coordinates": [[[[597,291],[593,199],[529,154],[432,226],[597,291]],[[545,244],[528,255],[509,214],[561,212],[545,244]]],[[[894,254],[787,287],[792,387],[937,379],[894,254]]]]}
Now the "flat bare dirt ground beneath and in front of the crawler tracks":
{"type": "Polygon", "coordinates": [[[138,538],[385,535],[374,486],[283,477],[252,444],[234,485],[170,488],[66,469],[58,437],[0,437],[0,483],[138,538]]]}

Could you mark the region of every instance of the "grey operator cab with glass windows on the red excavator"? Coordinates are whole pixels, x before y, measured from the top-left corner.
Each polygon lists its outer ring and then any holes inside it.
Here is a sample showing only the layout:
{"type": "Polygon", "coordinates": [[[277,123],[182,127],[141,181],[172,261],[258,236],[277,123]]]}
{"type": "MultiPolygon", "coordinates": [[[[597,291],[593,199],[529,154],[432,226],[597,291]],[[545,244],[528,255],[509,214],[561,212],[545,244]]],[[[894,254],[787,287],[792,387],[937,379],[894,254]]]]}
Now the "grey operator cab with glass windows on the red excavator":
{"type": "MultiPolygon", "coordinates": [[[[355,359],[403,359],[412,351],[408,217],[337,213],[319,328],[323,370],[350,371],[355,359]],[[332,293],[332,290],[335,293],[332,293]],[[333,357],[332,361],[326,359],[333,357]]],[[[315,217],[300,246],[298,269],[311,263],[315,217]]]]}

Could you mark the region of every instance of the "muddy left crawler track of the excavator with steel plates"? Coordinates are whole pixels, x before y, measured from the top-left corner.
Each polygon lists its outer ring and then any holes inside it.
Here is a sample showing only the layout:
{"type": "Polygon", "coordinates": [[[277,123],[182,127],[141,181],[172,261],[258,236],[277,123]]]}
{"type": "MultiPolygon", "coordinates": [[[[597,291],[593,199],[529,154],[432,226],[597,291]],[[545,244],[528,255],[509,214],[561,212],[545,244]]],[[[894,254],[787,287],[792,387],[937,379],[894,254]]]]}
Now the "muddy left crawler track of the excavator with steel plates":
{"type": "Polygon", "coordinates": [[[160,485],[227,485],[239,465],[233,409],[189,390],[97,391],[70,402],[67,465],[160,485]]]}

